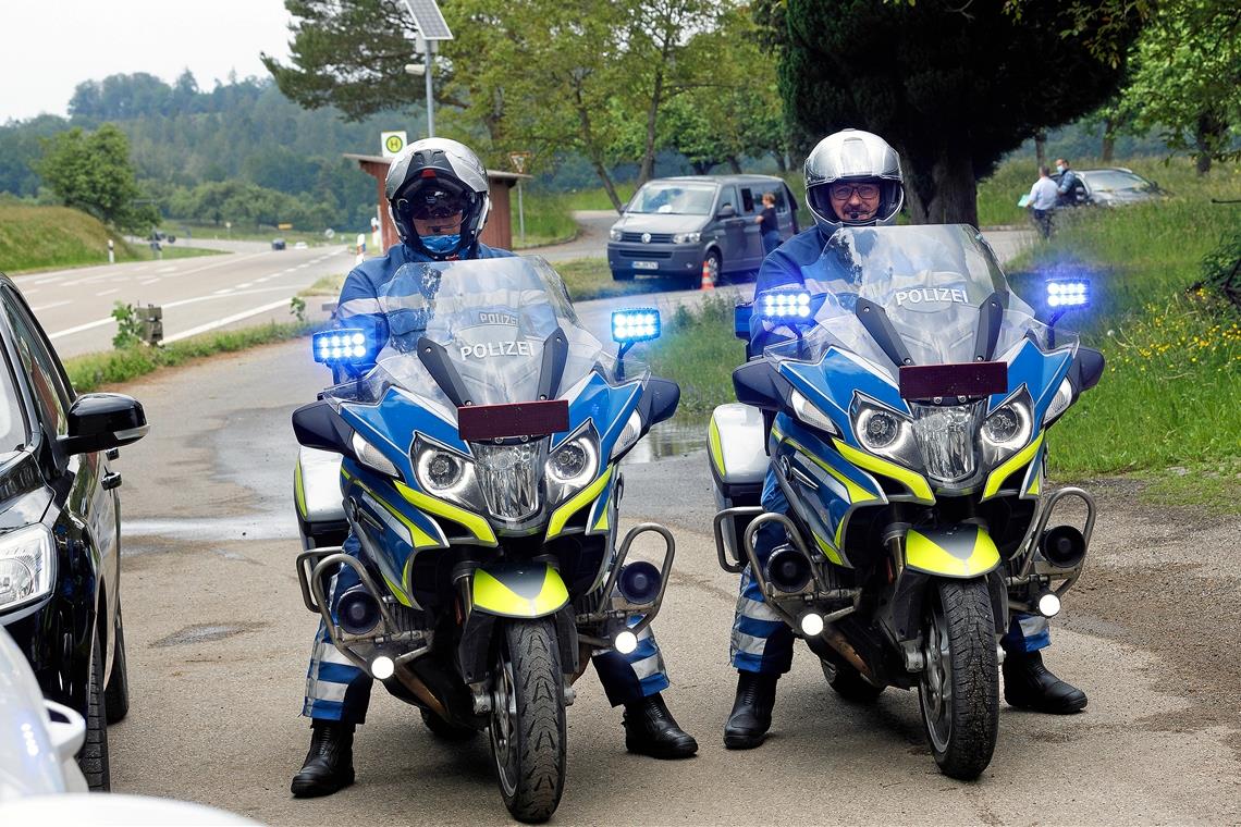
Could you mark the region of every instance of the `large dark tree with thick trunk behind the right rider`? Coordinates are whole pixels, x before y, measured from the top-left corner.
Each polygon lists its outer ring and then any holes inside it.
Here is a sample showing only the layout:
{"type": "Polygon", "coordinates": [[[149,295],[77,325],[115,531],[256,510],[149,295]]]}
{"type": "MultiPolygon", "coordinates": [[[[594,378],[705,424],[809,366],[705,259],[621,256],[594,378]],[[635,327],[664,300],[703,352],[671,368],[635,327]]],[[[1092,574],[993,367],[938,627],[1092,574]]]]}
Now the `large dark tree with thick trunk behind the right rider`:
{"type": "MultiPolygon", "coordinates": [[[[1076,119],[1119,86],[1127,48],[1113,62],[1059,36],[1103,25],[1078,24],[1075,9],[1023,0],[1018,20],[1000,4],[788,0],[781,94],[807,133],[856,126],[887,139],[916,222],[977,224],[979,177],[1036,129],[1076,119]]],[[[1109,42],[1131,43],[1139,15],[1107,26],[1109,42]]]]}

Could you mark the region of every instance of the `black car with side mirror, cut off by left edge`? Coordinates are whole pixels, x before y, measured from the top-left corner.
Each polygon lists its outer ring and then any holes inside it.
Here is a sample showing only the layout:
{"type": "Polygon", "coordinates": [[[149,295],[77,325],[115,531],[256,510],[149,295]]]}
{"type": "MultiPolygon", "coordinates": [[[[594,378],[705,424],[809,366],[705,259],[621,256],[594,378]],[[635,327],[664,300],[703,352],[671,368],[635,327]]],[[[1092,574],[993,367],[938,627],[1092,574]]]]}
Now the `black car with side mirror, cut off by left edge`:
{"type": "Polygon", "coordinates": [[[0,624],[43,694],[87,720],[78,756],[107,790],[108,728],[129,709],[120,615],[120,475],[148,430],[141,404],[76,394],[14,283],[0,274],[0,624]]]}

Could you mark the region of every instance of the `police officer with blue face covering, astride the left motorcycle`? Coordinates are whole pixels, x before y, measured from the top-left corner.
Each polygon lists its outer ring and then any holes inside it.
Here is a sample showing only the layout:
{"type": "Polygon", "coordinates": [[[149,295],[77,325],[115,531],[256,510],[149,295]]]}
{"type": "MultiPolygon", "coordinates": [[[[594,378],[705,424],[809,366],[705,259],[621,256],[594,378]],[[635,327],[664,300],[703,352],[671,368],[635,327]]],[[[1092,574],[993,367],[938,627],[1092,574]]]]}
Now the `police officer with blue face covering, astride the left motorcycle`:
{"type": "MultiPolygon", "coordinates": [[[[431,138],[411,144],[393,160],[385,195],[401,243],[355,267],[340,291],[338,315],[343,325],[370,327],[375,341],[387,341],[380,306],[381,290],[402,264],[510,257],[479,242],[491,201],[486,170],[463,144],[431,138]]],[[[350,534],[344,551],[356,557],[361,546],[350,534]]],[[[341,567],[333,595],[357,583],[341,567]]],[[[697,743],[676,725],[660,692],[669,686],[663,657],[650,630],[629,655],[596,652],[596,671],[612,705],[624,705],[625,748],[654,758],[685,758],[697,743]]],[[[354,728],[366,718],[371,677],[331,645],[319,622],[307,673],[302,714],[310,718],[310,751],[293,777],[298,797],[330,795],[354,782],[354,728]]]]}

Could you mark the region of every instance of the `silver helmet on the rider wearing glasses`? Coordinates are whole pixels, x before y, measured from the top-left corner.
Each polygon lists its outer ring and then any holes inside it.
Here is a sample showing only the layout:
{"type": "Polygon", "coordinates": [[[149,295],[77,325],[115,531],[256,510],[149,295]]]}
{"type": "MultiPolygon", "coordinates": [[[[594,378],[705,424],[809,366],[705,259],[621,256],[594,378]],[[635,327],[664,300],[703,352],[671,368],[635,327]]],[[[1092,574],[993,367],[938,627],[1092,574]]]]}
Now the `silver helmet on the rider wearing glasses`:
{"type": "Polygon", "coordinates": [[[872,133],[843,129],[828,135],[805,159],[805,202],[824,236],[840,227],[891,224],[905,205],[901,157],[872,133]],[[880,190],[879,210],[865,219],[841,219],[830,196],[833,185],[838,184],[875,184],[880,190]]]}

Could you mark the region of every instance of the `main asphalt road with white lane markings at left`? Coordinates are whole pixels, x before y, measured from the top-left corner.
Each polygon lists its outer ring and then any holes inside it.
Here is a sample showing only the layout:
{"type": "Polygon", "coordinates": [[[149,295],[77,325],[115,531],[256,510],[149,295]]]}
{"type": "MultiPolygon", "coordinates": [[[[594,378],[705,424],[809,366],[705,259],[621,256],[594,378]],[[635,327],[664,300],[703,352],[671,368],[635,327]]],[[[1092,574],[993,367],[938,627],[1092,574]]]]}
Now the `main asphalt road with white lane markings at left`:
{"type": "Polygon", "coordinates": [[[164,341],[222,327],[289,321],[289,299],[352,267],[345,247],[273,250],[268,243],[208,242],[223,255],[31,273],[17,288],[62,357],[112,348],[117,301],[164,307],[164,341]]]}

